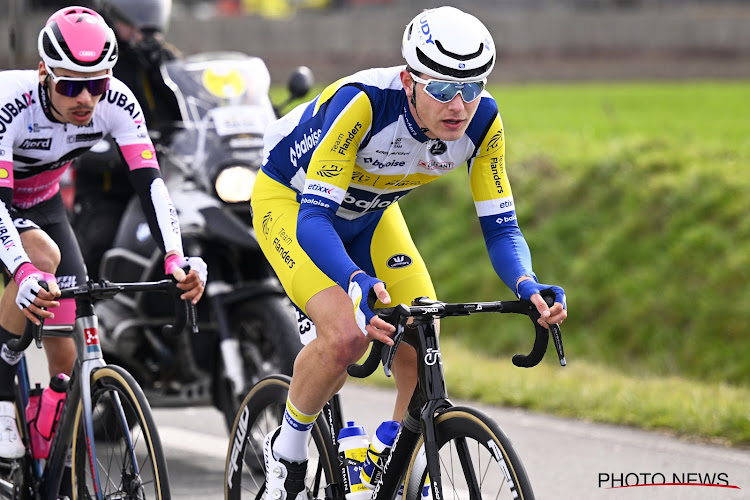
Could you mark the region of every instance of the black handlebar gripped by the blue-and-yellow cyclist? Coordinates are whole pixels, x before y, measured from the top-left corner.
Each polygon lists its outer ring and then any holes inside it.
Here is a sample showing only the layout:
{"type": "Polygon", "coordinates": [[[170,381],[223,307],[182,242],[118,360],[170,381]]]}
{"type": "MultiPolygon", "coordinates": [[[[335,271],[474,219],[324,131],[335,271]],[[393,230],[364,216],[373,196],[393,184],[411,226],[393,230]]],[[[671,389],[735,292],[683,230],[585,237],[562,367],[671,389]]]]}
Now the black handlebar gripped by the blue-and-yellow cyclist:
{"type": "MultiPolygon", "coordinates": [[[[555,294],[552,290],[542,290],[541,295],[549,306],[554,304],[555,294]]],[[[444,318],[447,316],[468,316],[469,314],[483,312],[523,314],[528,316],[534,323],[536,337],[531,352],[529,354],[514,355],[513,364],[522,368],[530,368],[539,364],[547,352],[550,333],[552,333],[554,339],[560,365],[565,366],[567,364],[563,350],[560,326],[556,324],[550,325],[550,329],[548,330],[540,325],[537,320],[541,315],[531,301],[521,299],[497,302],[445,303],[430,301],[422,297],[415,302],[417,305],[411,307],[406,304],[399,304],[395,307],[373,308],[375,301],[373,300],[372,294],[368,296],[368,304],[373,312],[387,323],[394,325],[397,328],[397,332],[398,328],[403,328],[406,320],[410,317],[417,318],[431,316],[433,318],[444,318]]],[[[382,342],[377,340],[373,341],[370,354],[365,361],[361,365],[349,365],[347,368],[349,375],[357,378],[364,378],[371,375],[377,369],[378,365],[381,362],[385,362],[386,358],[389,356],[383,353],[383,347],[384,344],[382,342]]],[[[392,358],[392,353],[390,354],[390,357],[392,358]]]]}

